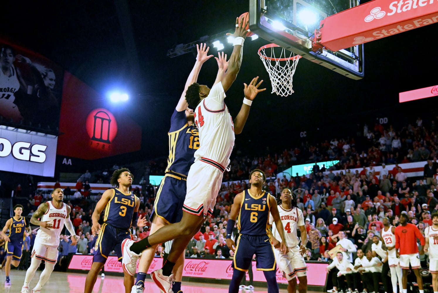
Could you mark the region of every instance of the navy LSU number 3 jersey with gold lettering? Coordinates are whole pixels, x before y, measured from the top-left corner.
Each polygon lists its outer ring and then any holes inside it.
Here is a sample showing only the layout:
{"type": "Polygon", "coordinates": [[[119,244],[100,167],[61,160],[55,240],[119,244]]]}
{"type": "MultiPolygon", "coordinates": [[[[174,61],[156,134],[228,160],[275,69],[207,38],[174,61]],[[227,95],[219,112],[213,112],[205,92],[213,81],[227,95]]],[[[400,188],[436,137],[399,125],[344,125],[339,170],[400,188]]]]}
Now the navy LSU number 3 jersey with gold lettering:
{"type": "Polygon", "coordinates": [[[103,222],[116,228],[129,229],[134,214],[135,195],[132,192],[126,195],[117,188],[111,190],[113,195],[106,204],[103,222]]]}

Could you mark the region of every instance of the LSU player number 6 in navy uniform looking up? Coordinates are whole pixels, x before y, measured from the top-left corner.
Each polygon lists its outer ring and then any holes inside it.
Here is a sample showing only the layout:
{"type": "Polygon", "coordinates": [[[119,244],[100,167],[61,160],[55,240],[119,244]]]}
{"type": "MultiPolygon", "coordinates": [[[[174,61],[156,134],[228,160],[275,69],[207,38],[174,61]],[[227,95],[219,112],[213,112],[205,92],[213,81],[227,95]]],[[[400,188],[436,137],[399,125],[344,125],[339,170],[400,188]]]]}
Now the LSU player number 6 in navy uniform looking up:
{"type": "Polygon", "coordinates": [[[226,245],[230,250],[235,251],[235,254],[233,258],[233,278],[228,289],[229,293],[239,292],[240,281],[251,265],[254,254],[257,257],[257,270],[263,271],[268,283],[268,292],[279,292],[276,279],[276,258],[267,228],[269,215],[272,216],[273,221],[279,228],[278,234],[282,240],[280,249],[283,253],[287,253],[288,250],[277,202],[271,194],[262,189],[265,180],[266,177],[263,171],[259,169],[251,171],[250,189],[237,194],[231,206],[230,219],[226,226],[226,245]],[[237,247],[234,247],[235,244],[231,239],[231,233],[237,215],[239,215],[237,226],[240,235],[237,240],[237,247]]]}

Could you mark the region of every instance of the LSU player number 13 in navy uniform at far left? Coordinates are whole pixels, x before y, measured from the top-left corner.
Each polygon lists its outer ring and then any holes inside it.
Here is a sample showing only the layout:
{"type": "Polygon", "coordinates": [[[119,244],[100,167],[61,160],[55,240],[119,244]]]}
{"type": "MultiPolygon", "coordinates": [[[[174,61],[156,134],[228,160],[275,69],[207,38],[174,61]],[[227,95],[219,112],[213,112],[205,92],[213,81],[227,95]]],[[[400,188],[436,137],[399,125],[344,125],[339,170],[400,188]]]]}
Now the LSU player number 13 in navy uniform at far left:
{"type": "Polygon", "coordinates": [[[6,265],[4,268],[6,274],[5,285],[11,285],[11,279],[9,278],[11,265],[18,267],[20,264],[21,255],[23,254],[23,241],[26,238],[26,230],[28,234],[31,233],[29,222],[25,217],[21,216],[22,212],[23,206],[15,205],[14,216],[6,221],[6,225],[0,233],[6,241],[6,265]],[[9,230],[9,235],[6,235],[7,230],[9,230]]]}

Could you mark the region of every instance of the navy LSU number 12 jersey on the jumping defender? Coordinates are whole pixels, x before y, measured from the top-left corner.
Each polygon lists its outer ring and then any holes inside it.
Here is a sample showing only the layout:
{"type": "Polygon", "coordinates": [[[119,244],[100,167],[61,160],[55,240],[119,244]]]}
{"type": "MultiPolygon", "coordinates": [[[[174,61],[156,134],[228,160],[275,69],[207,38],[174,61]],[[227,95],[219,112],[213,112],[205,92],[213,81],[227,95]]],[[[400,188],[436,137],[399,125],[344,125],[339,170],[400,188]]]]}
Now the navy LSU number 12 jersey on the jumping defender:
{"type": "Polygon", "coordinates": [[[169,158],[166,173],[177,173],[187,177],[194,162],[194,152],[199,148],[198,129],[187,123],[185,111],[177,109],[170,118],[169,158]]]}

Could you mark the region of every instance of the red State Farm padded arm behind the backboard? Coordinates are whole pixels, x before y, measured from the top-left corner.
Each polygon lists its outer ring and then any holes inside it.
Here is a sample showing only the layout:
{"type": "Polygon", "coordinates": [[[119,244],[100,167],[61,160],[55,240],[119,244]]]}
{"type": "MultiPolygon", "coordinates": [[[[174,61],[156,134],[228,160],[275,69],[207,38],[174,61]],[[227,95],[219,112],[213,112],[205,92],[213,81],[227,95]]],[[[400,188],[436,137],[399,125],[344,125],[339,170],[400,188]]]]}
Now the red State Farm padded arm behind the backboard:
{"type": "Polygon", "coordinates": [[[436,0],[373,0],[321,21],[321,43],[338,51],[437,22],[436,0]]]}

